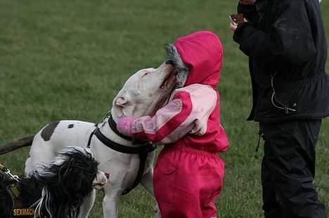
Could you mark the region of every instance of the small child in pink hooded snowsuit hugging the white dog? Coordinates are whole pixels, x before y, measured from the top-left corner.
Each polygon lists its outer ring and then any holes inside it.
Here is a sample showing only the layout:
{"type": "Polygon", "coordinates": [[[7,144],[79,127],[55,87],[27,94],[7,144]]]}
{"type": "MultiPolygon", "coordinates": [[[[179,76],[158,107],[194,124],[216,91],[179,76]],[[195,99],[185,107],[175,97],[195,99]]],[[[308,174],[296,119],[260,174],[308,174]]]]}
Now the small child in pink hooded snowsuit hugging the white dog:
{"type": "Polygon", "coordinates": [[[164,144],[153,178],[162,217],[217,217],[214,201],[224,177],[224,161],[217,154],[228,149],[216,89],[223,48],[206,31],[177,39],[174,48],[189,69],[183,87],[174,90],[155,116],[120,118],[117,129],[164,144]]]}

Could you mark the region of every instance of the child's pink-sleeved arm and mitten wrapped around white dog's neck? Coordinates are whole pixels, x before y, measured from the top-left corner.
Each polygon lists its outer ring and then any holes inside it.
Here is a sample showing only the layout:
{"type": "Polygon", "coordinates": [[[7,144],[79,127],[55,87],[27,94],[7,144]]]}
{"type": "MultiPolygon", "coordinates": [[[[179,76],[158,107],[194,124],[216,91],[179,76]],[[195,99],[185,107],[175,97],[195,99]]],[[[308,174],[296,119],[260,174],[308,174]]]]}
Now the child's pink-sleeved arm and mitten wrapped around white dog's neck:
{"type": "Polygon", "coordinates": [[[169,144],[176,142],[195,126],[192,107],[190,93],[179,92],[153,117],[120,118],[117,122],[117,130],[124,135],[153,143],[169,144]]]}

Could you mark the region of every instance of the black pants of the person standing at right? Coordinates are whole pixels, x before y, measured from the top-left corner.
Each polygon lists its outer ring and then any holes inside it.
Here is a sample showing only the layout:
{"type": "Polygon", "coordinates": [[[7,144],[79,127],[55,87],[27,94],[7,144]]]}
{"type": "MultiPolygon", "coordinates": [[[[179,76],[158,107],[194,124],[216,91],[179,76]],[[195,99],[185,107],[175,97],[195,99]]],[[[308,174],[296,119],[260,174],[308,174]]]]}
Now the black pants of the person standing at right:
{"type": "Polygon", "coordinates": [[[325,218],[314,187],[318,121],[262,124],[263,210],[266,218],[325,218]]]}

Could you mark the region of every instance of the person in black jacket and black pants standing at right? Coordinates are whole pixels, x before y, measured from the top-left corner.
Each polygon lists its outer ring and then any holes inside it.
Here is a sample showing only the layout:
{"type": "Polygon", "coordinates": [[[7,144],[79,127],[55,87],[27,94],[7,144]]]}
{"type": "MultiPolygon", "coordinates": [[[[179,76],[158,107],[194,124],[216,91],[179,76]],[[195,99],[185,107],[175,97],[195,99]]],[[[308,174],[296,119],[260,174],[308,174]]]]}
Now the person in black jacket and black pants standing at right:
{"type": "Polygon", "coordinates": [[[252,111],[259,122],[266,218],[325,218],[314,187],[315,144],[329,116],[327,45],[318,0],[240,0],[231,22],[249,57],[252,111]]]}

